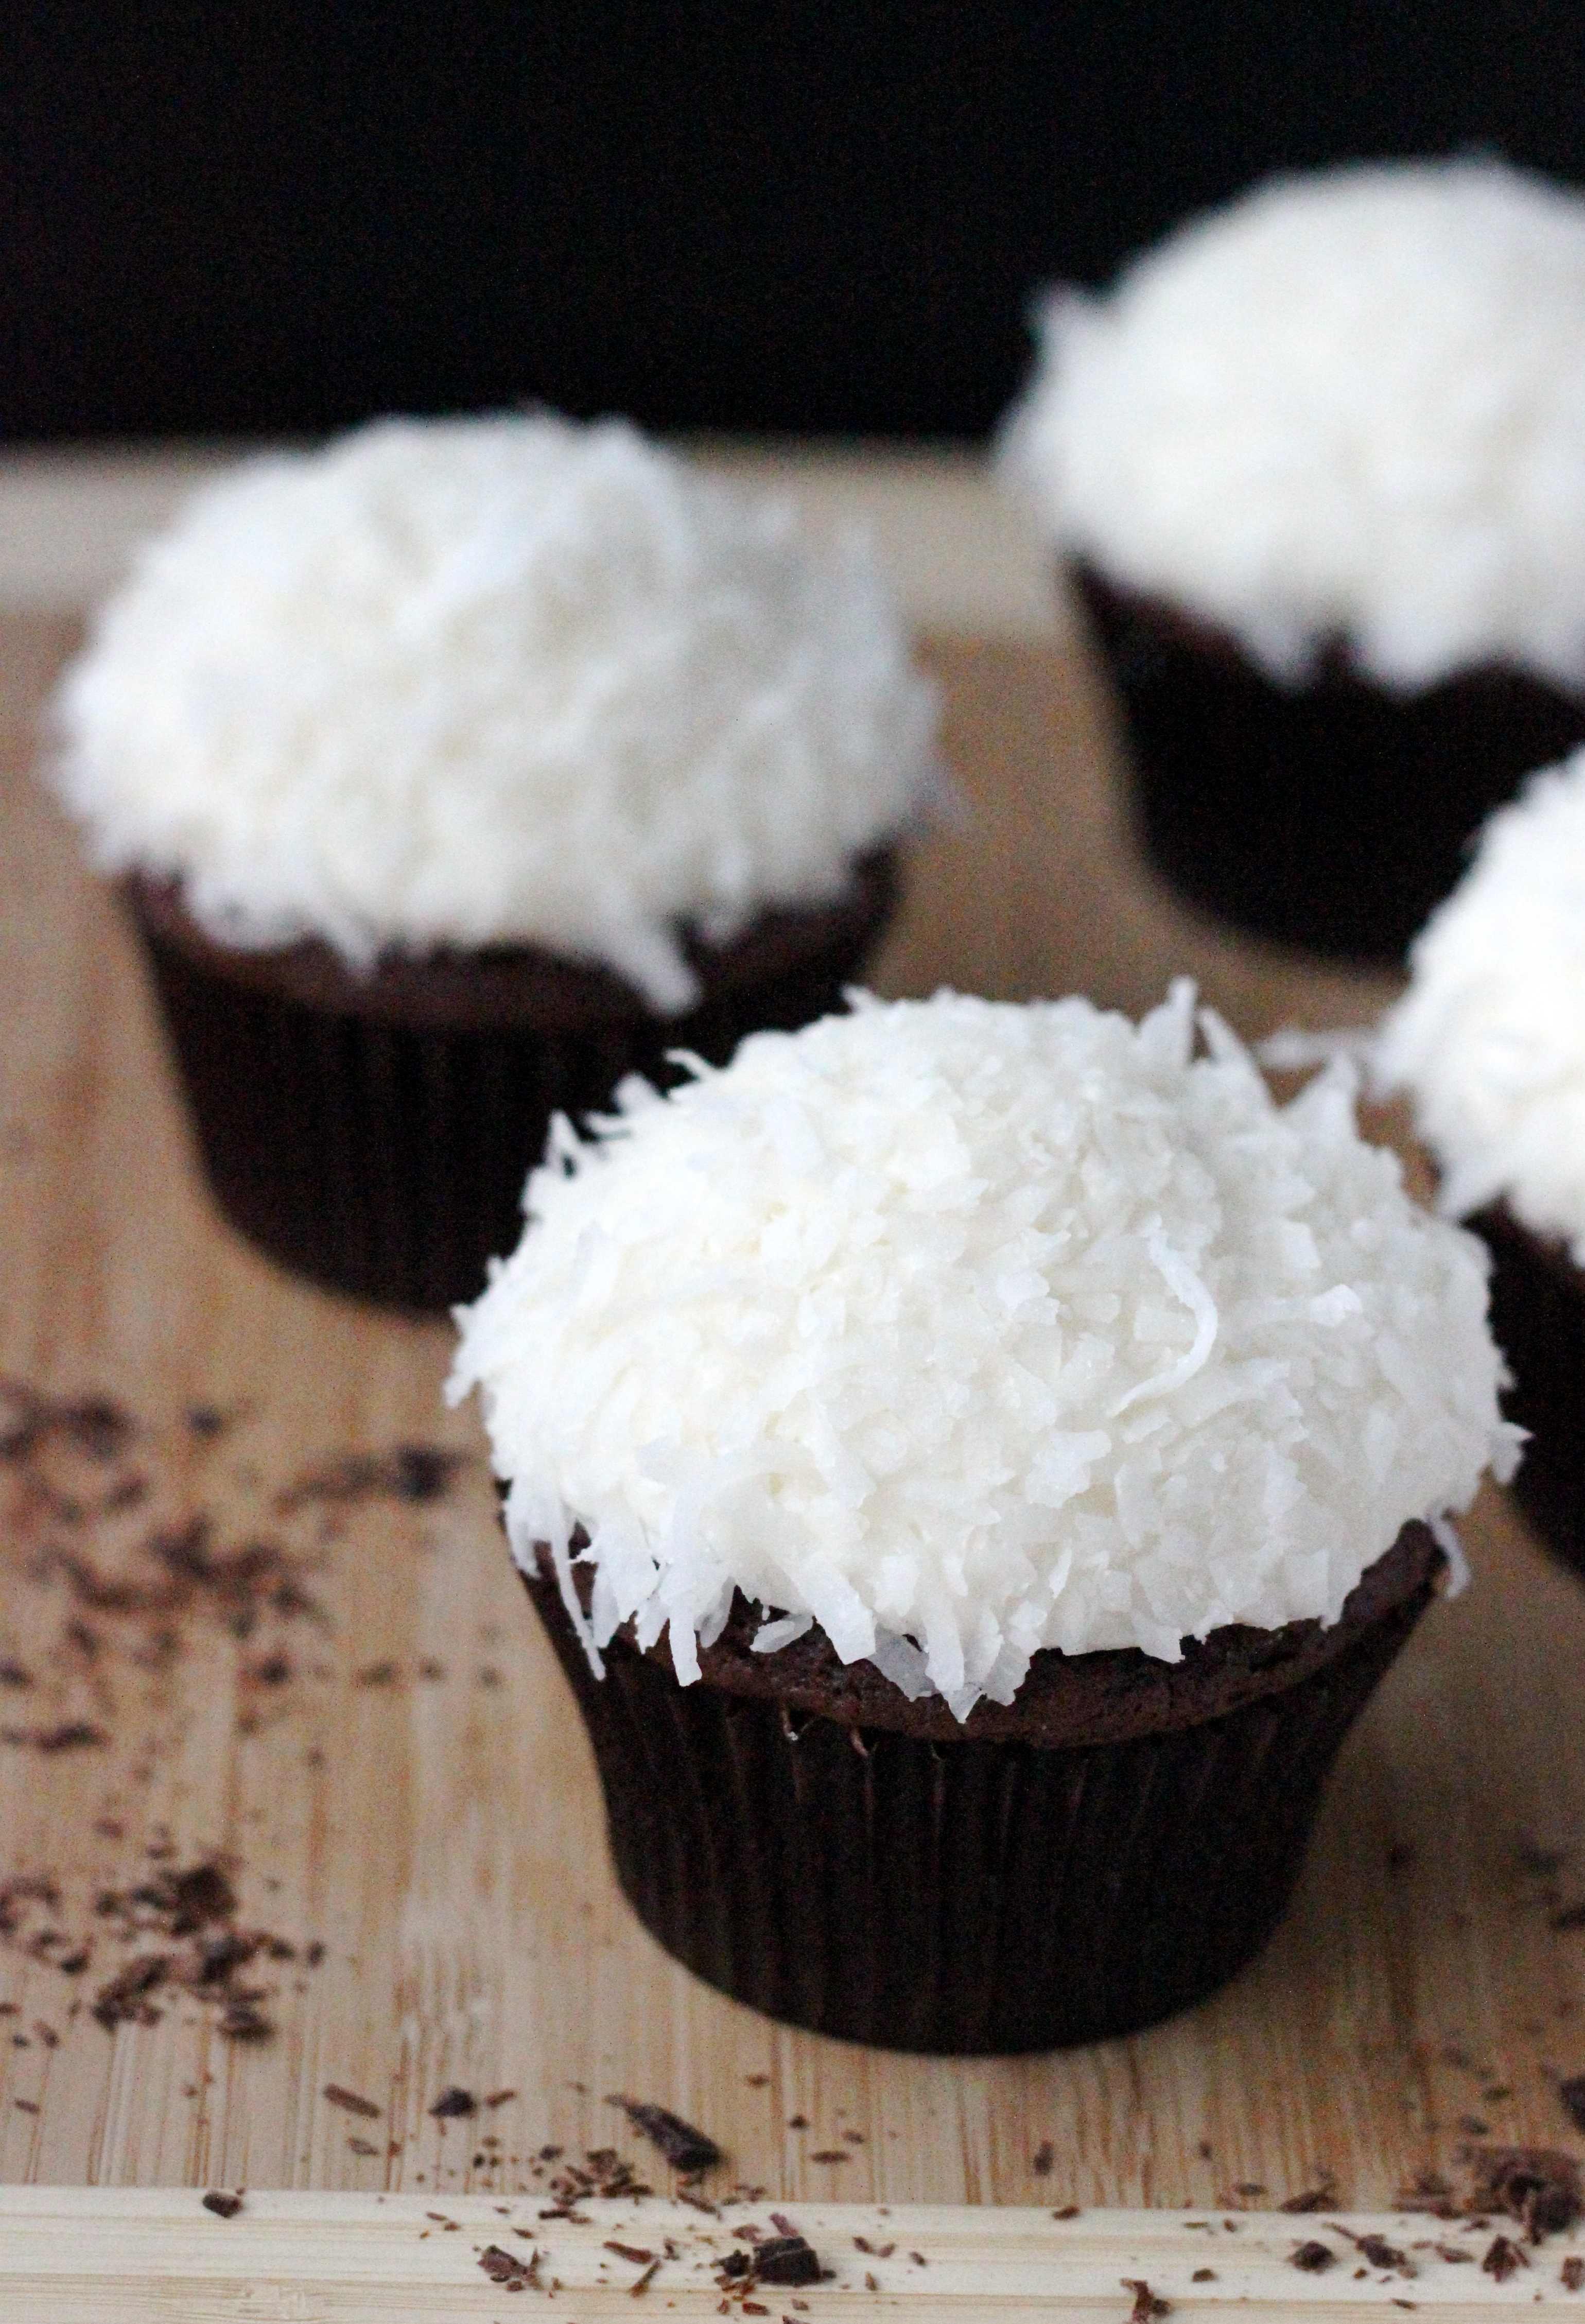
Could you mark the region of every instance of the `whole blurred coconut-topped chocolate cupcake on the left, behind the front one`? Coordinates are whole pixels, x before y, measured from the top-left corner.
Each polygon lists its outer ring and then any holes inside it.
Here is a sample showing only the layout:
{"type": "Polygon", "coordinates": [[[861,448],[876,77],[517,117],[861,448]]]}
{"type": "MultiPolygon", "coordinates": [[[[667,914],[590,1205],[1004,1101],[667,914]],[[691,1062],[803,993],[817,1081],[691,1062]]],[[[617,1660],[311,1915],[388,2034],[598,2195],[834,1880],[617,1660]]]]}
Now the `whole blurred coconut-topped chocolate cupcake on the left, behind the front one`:
{"type": "Polygon", "coordinates": [[[144,551],[51,774],[225,1215],[444,1308],[558,1111],[839,1006],[934,718],[874,567],[783,507],[621,423],[386,421],[144,551]]]}

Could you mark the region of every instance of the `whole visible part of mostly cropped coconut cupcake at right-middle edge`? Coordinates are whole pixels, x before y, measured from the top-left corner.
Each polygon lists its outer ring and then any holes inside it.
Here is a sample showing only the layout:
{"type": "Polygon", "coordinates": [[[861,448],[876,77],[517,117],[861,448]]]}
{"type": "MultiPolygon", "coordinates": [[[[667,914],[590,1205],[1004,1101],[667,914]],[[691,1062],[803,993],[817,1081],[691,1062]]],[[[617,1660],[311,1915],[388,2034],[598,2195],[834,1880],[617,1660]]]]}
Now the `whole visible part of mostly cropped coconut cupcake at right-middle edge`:
{"type": "Polygon", "coordinates": [[[1492,1250],[1513,1492],[1585,1571],[1585,751],[1492,816],[1411,953],[1378,1071],[1408,1090],[1441,1206],[1492,1250]]]}

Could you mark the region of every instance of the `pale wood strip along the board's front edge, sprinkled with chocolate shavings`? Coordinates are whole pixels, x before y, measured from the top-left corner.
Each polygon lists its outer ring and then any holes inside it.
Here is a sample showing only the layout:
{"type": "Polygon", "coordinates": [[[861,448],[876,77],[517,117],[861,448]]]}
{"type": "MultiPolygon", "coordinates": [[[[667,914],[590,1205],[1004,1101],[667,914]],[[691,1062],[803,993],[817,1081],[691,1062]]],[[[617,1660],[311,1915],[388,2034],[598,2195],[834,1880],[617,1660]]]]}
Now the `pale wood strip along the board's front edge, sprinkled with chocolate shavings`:
{"type": "MultiPolygon", "coordinates": [[[[1487,2324],[1536,2305],[1585,2303],[1562,2289],[1562,2266],[1580,2243],[1552,2238],[1497,2282],[1480,2261],[1492,2229],[1436,2226],[1387,2215],[1346,2219],[1239,2217],[1213,2212],[1048,2210],[809,2203],[788,2219],[813,2247],[827,2280],[802,2291],[776,2284],[723,2296],[720,2261],[776,2236],[772,2203],[734,2203],[718,2217],[681,2203],[590,2203],[579,2222],[544,2222],[532,2205],[462,2196],[425,2205],[416,2196],[258,2194],[232,2219],[207,2215],[193,2194],[53,2187],[37,2196],[0,2189],[0,2303],[7,2324],[397,2324],[407,2317],[523,2317],[535,2324],[616,2324],[651,2308],[676,2324],[716,2315],[783,2317],[786,2324],[1125,2324],[1146,2298],[1197,2324],[1357,2324],[1401,2308],[1487,2324]],[[751,2233],[746,2236],[744,2229],[751,2233]],[[1367,2266],[1360,2238],[1380,2236],[1394,2266],[1367,2266]],[[1325,2273],[1292,2266],[1301,2240],[1336,2254],[1325,2273]],[[621,2245],[621,2250],[614,2250],[621,2245]],[[667,2254],[667,2247],[672,2257],[667,2254]],[[530,2298],[511,2301],[481,2259],[537,2259],[530,2298]],[[660,2266],[651,2273],[651,2259],[660,2266]],[[1455,2257],[1457,2254],[1457,2257],[1455,2257]],[[644,2308],[632,2305],[646,2280],[644,2308]],[[551,2289],[555,2287],[555,2289],[551,2289]],[[788,2315],[788,2303],[799,2315],[788,2315]],[[753,2303],[753,2305],[751,2305],[753,2303]]],[[[500,2261],[497,2261],[500,2268],[500,2261]]],[[[504,2271],[502,2271],[504,2273],[504,2271]]]]}

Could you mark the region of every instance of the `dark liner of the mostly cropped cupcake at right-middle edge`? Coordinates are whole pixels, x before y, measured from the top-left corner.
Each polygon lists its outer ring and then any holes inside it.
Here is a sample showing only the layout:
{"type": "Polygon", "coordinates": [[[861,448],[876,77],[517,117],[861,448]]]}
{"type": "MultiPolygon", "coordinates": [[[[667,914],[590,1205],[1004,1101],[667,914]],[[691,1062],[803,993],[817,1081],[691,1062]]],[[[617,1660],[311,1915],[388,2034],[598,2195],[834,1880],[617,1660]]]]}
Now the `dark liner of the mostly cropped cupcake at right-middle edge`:
{"type": "Polygon", "coordinates": [[[1506,1204],[1466,1225],[1492,1253],[1492,1339],[1513,1373],[1501,1408],[1529,1429],[1513,1497],[1548,1548],[1585,1573],[1585,1276],[1506,1204]]]}

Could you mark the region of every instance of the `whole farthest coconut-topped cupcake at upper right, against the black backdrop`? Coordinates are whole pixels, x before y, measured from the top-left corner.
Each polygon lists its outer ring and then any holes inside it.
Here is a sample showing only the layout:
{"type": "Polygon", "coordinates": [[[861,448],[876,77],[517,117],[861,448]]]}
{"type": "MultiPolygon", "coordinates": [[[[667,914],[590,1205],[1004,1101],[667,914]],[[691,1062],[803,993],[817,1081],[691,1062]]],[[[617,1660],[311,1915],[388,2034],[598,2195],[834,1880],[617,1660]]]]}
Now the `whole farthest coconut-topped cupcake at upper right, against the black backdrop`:
{"type": "Polygon", "coordinates": [[[1146,853],[1243,930],[1399,957],[1585,739],[1585,200],[1487,160],[1283,179],[1041,335],[1006,456],[1146,853]]]}

